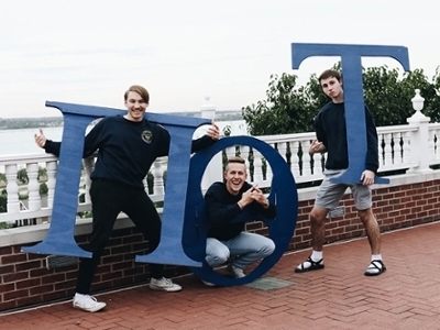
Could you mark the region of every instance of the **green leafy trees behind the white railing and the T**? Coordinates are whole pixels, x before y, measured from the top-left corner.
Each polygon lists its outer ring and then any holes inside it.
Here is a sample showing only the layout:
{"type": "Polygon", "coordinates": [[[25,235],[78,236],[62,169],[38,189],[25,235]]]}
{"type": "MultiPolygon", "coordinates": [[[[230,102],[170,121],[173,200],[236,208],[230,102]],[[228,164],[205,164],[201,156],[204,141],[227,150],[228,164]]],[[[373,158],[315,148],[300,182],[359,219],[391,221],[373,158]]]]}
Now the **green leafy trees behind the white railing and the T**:
{"type": "MultiPolygon", "coordinates": [[[[337,63],[332,68],[340,67],[337,63]]],[[[424,113],[431,122],[440,121],[440,68],[431,81],[421,69],[400,74],[387,66],[364,68],[363,84],[377,127],[407,123],[414,113],[415,89],[425,98],[424,113]]],[[[272,75],[266,99],[243,107],[242,113],[252,135],[312,132],[316,114],[329,101],[315,74],[305,86],[297,86],[295,75],[272,75]]]]}

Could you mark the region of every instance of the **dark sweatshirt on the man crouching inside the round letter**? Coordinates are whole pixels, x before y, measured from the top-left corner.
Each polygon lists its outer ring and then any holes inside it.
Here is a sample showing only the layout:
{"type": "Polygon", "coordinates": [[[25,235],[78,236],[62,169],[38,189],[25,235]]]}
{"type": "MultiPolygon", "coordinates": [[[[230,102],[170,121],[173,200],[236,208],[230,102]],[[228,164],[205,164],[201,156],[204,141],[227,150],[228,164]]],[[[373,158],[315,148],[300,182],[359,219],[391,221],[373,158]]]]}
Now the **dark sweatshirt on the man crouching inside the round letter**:
{"type": "MultiPolygon", "coordinates": [[[[210,224],[208,238],[215,238],[220,241],[228,241],[239,235],[244,230],[244,222],[233,222],[244,211],[250,211],[249,215],[257,215],[266,219],[274,219],[276,216],[275,206],[270,205],[265,209],[256,201],[245,206],[243,209],[237,204],[243,193],[252,186],[244,183],[238,195],[232,195],[228,191],[224,183],[215,183],[209,187],[205,195],[205,212],[206,219],[210,224]]],[[[256,220],[254,218],[245,219],[248,221],[256,220]]]]}

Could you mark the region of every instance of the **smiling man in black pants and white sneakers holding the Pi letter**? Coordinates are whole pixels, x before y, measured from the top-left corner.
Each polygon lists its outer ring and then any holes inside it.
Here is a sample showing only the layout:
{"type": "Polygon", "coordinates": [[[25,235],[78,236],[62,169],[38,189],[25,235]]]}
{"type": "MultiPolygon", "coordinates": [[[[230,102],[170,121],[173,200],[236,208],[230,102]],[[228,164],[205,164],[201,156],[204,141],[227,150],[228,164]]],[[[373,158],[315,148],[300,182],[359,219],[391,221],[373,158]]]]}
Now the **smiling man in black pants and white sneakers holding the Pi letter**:
{"type": "MultiPolygon", "coordinates": [[[[90,175],[92,232],[88,251],[91,258],[79,263],[76,294],[73,305],[86,311],[106,307],[90,296],[90,286],[102,252],[110,238],[118,215],[123,211],[148,240],[148,249],[157,248],[161,238],[161,219],[145,193],[143,179],[153,162],[168,154],[170,136],[161,125],[148,122],[144,113],[150,95],[142,86],[131,86],[124,94],[127,114],[100,120],[87,134],[84,157],[98,151],[95,169],[90,175]]],[[[207,135],[193,142],[193,152],[215,143],[219,128],[212,123],[207,135]]],[[[46,153],[59,155],[61,142],[46,140],[42,130],[35,134],[35,143],[46,153]]],[[[173,179],[173,178],[169,178],[173,179]]],[[[150,264],[150,288],[178,292],[182,287],[163,276],[164,266],[150,264]]]]}

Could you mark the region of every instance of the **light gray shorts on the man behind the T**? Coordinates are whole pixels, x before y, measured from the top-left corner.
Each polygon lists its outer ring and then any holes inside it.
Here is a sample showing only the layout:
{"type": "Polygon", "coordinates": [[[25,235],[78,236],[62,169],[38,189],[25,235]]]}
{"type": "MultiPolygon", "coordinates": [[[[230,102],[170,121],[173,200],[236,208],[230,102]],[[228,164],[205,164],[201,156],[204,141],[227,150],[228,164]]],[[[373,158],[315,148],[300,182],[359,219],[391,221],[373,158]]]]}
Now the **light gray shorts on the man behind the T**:
{"type": "Polygon", "coordinates": [[[348,185],[348,184],[332,184],[330,178],[339,176],[343,170],[330,170],[323,172],[324,178],[321,186],[318,189],[317,197],[315,199],[315,206],[324,209],[334,209],[338,207],[339,201],[344,195],[346,187],[350,187],[353,194],[354,205],[358,210],[366,210],[372,207],[372,191],[371,186],[360,185],[348,185]]]}

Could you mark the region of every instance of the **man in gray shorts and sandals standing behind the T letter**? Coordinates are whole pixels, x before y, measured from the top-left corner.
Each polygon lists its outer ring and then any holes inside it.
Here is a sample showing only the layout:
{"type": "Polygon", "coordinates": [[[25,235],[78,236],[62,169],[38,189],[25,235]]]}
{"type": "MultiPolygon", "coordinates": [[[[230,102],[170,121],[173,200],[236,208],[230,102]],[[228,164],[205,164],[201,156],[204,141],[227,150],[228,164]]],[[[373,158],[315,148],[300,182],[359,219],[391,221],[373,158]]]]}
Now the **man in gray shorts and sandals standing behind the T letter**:
{"type": "MultiPolygon", "coordinates": [[[[358,215],[365,228],[371,246],[372,258],[365,276],[381,275],[386,271],[381,255],[381,232],[372,211],[371,185],[378,168],[377,132],[373,118],[365,107],[367,150],[365,168],[360,184],[333,184],[331,177],[341,175],[349,167],[346,142],[344,95],[342,78],[336,70],[326,70],[319,76],[323,92],[331,98],[315,119],[317,140],[309,147],[309,153],[327,152],[324,178],[317,193],[315,206],[310,212],[311,255],[296,268],[296,273],[321,270],[324,267],[322,245],[324,242],[324,220],[329,211],[336,208],[346,187],[350,187],[358,215]]],[[[361,111],[360,111],[361,112],[361,111]]]]}

